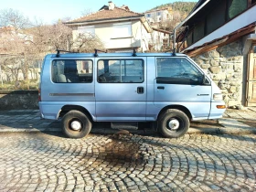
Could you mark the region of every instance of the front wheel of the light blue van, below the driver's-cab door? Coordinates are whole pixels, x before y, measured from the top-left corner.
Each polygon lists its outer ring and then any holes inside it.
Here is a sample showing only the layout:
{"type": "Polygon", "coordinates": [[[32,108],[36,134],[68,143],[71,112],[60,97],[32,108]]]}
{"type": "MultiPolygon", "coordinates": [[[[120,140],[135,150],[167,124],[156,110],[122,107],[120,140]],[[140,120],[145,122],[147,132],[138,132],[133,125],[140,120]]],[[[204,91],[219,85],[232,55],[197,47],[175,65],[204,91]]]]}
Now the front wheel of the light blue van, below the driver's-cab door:
{"type": "Polygon", "coordinates": [[[187,114],[170,109],[159,117],[158,131],[167,138],[177,138],[187,133],[189,124],[187,114]],[[170,123],[174,126],[173,128],[169,126],[170,123]]]}

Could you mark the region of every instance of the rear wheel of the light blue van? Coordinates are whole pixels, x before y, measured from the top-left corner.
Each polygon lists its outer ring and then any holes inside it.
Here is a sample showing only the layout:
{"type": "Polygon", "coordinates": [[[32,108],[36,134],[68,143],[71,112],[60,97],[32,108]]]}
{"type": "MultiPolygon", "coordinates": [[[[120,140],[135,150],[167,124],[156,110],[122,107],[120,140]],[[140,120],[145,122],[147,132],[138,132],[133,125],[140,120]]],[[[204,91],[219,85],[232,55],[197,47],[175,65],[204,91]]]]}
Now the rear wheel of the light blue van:
{"type": "Polygon", "coordinates": [[[91,132],[91,121],[86,114],[79,111],[67,112],[62,117],[63,133],[69,138],[82,138],[91,132]],[[79,124],[80,128],[77,130],[72,129],[71,123],[79,124]]]}

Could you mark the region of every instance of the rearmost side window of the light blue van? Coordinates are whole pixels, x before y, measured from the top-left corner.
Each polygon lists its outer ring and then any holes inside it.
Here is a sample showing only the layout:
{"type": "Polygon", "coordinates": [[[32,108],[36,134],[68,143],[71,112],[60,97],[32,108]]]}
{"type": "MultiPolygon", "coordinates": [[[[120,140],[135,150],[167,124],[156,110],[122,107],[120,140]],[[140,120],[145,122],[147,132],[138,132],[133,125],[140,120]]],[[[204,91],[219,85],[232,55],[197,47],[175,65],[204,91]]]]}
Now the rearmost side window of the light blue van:
{"type": "Polygon", "coordinates": [[[55,83],[92,82],[92,60],[53,60],[51,80],[55,83]]]}

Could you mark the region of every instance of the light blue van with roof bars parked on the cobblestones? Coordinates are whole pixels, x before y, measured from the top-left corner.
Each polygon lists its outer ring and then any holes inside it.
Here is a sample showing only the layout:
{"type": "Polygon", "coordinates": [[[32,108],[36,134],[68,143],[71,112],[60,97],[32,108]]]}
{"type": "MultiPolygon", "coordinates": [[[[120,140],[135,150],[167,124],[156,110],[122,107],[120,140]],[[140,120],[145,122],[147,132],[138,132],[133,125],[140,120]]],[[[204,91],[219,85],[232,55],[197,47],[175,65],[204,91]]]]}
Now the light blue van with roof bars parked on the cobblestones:
{"type": "Polygon", "coordinates": [[[44,59],[41,117],[61,117],[64,133],[86,136],[93,122],[137,128],[148,122],[165,137],[187,133],[190,121],[225,112],[218,86],[184,54],[51,54],[44,59]]]}

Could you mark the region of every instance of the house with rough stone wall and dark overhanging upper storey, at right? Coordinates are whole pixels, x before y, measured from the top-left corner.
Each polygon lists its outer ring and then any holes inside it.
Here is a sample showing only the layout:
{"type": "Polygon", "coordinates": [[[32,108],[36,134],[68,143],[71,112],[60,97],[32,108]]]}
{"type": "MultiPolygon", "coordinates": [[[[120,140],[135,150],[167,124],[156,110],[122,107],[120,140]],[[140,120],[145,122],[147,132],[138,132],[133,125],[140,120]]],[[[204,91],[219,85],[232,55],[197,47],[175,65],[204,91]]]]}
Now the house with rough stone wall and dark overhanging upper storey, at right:
{"type": "Polygon", "coordinates": [[[199,0],[176,37],[178,49],[209,71],[229,107],[256,106],[255,13],[256,0],[199,0]]]}

